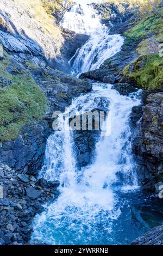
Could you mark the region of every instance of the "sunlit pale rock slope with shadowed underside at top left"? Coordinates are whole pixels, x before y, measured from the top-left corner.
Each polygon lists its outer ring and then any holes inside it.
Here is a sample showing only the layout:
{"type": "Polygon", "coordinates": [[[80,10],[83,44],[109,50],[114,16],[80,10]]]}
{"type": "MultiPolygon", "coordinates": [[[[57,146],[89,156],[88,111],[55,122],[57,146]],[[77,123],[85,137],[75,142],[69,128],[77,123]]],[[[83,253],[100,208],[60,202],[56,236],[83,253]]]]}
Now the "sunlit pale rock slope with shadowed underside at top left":
{"type": "MultiPolygon", "coordinates": [[[[65,11],[63,7],[61,15],[65,11]]],[[[0,44],[16,60],[70,73],[68,60],[88,38],[60,28],[59,20],[49,17],[39,1],[1,1],[0,44]]]]}

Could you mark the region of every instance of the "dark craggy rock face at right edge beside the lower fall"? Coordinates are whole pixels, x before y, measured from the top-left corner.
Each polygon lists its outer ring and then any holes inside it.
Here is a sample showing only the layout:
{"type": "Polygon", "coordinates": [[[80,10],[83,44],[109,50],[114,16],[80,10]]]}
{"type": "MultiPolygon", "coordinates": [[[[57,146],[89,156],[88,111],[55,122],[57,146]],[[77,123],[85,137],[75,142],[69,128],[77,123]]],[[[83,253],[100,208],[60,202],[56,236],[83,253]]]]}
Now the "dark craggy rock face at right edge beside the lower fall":
{"type": "Polygon", "coordinates": [[[163,93],[149,94],[145,99],[139,135],[134,139],[134,153],[139,166],[140,183],[155,191],[163,180],[163,93]]]}

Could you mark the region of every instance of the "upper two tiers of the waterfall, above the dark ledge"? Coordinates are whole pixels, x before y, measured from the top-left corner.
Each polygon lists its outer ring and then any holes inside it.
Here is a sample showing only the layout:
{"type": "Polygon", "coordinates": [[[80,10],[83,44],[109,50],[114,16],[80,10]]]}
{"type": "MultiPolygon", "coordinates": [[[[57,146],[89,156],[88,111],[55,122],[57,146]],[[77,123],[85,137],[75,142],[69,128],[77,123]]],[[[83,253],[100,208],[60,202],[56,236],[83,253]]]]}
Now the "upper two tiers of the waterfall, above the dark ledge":
{"type": "Polygon", "coordinates": [[[98,69],[104,60],[121,50],[124,42],[121,35],[109,35],[109,29],[102,25],[100,16],[91,5],[74,5],[65,13],[61,26],[90,35],[90,39],[70,60],[72,72],[76,75],[98,69]]]}

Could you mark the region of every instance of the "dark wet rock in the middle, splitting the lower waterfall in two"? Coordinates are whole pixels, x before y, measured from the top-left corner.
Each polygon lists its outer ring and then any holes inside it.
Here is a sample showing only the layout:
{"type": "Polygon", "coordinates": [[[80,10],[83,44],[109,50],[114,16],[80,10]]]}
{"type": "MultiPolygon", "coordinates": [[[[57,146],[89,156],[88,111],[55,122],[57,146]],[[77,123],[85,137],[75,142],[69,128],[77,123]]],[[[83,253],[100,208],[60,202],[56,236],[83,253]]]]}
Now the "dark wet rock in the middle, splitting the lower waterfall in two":
{"type": "Polygon", "coordinates": [[[86,113],[92,115],[89,115],[89,118],[84,120],[84,122],[82,115],[82,121],[78,127],[80,130],[73,131],[74,154],[76,155],[76,163],[79,169],[88,166],[95,159],[96,144],[101,138],[103,121],[109,112],[109,108],[104,107],[109,105],[106,97],[96,97],[95,102],[97,103],[97,108],[86,113]],[[103,118],[100,119],[102,113],[103,118]],[[83,127],[86,129],[82,130],[83,127]]]}

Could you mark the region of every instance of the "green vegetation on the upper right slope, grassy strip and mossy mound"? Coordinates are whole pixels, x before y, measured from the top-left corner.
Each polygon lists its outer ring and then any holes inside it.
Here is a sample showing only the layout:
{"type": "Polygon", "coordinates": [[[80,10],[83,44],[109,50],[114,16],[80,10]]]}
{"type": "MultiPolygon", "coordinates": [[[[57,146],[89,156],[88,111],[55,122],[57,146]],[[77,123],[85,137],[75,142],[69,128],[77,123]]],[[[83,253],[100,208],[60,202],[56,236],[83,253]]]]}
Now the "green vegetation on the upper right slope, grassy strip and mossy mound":
{"type": "Polygon", "coordinates": [[[139,42],[136,51],[140,54],[130,63],[123,74],[128,81],[134,82],[142,89],[160,88],[163,86],[163,58],[158,53],[147,54],[147,43],[150,38],[156,41],[163,39],[163,8],[158,8],[147,17],[141,17],[139,23],[126,32],[127,43],[139,42]],[[148,37],[147,37],[148,35],[148,37]]]}

